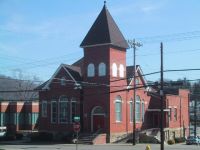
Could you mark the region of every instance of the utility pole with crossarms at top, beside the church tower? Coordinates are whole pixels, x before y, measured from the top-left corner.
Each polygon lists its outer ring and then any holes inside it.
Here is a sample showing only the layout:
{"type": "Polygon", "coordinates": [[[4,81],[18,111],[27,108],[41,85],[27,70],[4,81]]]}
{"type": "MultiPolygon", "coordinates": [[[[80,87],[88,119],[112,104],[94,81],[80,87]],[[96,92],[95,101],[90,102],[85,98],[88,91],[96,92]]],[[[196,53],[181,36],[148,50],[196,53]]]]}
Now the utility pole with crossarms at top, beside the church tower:
{"type": "Polygon", "coordinates": [[[128,44],[131,48],[133,48],[133,145],[136,145],[136,118],[135,118],[135,100],[136,100],[136,47],[142,46],[141,43],[136,42],[135,39],[128,40],[128,44]]]}

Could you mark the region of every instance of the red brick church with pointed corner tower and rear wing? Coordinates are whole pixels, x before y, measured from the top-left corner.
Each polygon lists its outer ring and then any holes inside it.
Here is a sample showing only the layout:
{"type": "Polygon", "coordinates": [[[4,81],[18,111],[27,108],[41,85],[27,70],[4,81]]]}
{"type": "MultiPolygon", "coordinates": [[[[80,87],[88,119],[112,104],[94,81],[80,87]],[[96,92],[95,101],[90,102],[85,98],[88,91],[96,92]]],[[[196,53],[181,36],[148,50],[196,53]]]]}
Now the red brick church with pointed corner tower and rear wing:
{"type": "MultiPolygon", "coordinates": [[[[134,67],[126,65],[128,44],[106,5],[80,46],[82,59],[72,65],[61,64],[38,87],[39,130],[55,136],[73,132],[74,116],[80,116],[81,133],[101,133],[107,142],[132,133],[133,117],[137,131],[158,128],[160,101],[152,94],[140,66],[136,67],[138,89],[133,109],[134,67]]],[[[187,90],[166,93],[166,139],[170,132],[181,136],[188,129],[188,100],[187,90]]]]}

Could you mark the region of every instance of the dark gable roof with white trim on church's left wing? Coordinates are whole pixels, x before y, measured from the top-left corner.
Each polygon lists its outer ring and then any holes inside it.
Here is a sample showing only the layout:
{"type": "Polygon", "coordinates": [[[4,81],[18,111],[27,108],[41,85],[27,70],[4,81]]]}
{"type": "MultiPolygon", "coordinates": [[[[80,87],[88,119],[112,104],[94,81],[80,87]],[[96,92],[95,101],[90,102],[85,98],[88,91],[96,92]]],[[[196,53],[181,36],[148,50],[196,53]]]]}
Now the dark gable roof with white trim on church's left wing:
{"type": "Polygon", "coordinates": [[[40,85],[38,88],[36,88],[36,90],[44,90],[44,89],[48,89],[49,85],[52,83],[53,79],[55,79],[55,77],[57,76],[57,74],[60,72],[61,69],[64,69],[66,71],[66,73],[72,78],[72,80],[74,82],[77,81],[82,81],[82,74],[81,74],[81,68],[80,67],[76,67],[76,66],[72,66],[72,65],[66,65],[66,64],[61,64],[58,69],[56,70],[56,72],[53,74],[53,76],[46,81],[45,83],[43,83],[42,85],[40,85]]]}

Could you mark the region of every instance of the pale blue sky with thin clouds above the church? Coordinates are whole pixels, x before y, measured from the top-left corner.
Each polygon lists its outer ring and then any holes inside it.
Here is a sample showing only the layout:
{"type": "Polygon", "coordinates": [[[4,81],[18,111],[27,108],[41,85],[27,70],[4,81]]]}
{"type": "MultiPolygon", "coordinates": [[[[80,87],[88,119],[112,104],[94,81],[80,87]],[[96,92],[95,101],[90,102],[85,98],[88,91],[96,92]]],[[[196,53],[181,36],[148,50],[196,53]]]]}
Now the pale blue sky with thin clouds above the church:
{"type": "MultiPolygon", "coordinates": [[[[103,0],[0,0],[0,74],[22,70],[47,80],[61,63],[80,59],[79,45],[102,7],[103,0]]],[[[125,38],[143,43],[136,62],[144,73],[159,71],[161,41],[164,69],[200,68],[199,0],[108,0],[107,7],[125,38]]],[[[200,79],[200,71],[164,76],[200,79]]]]}

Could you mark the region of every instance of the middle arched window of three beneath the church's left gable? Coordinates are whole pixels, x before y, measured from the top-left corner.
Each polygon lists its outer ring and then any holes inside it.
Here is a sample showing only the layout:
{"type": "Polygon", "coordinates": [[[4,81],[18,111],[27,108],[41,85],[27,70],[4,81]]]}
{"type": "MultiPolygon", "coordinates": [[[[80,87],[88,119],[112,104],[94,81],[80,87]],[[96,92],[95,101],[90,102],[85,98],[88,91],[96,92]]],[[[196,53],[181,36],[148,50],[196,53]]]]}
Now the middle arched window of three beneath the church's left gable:
{"type": "Polygon", "coordinates": [[[66,96],[60,96],[59,99],[59,122],[67,123],[68,122],[68,99],[66,96]]]}

